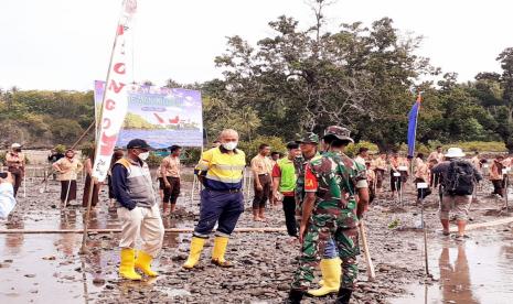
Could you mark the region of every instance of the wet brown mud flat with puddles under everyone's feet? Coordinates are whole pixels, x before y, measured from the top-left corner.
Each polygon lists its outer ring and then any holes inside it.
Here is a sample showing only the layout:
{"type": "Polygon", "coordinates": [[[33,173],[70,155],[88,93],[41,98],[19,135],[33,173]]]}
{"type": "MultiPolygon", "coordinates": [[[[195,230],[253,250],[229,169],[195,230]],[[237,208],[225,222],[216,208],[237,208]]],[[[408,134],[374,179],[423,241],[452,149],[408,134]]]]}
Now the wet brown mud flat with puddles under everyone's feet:
{"type": "MultiPolygon", "coordinates": [[[[39,193],[40,182],[29,183],[26,198],[0,229],[79,229],[83,208],[57,207],[58,185],[39,193]]],[[[189,187],[189,188],[188,188],[189,187]]],[[[165,227],[194,226],[197,195],[191,202],[186,184],[179,199],[180,216],[165,219],[165,227]]],[[[116,211],[108,209],[107,188],[92,214],[92,228],[118,228],[116,211]]],[[[489,185],[472,203],[471,222],[505,217],[504,200],[490,197],[489,185]]],[[[363,256],[352,303],[504,303],[513,295],[513,235],[510,225],[469,231],[459,242],[443,237],[438,221],[438,197],[426,199],[428,258],[432,278],[425,275],[420,207],[414,189],[403,204],[384,198],[374,202],[365,216],[376,280],[368,282],[363,256]],[[427,296],[426,296],[427,291],[427,296]]],[[[82,197],[79,187],[77,197],[82,197]]],[[[250,197],[249,197],[250,198],[250,197]]],[[[237,227],[285,227],[281,207],[267,209],[267,222],[254,222],[250,202],[237,227]]],[[[82,203],[82,202],[81,202],[82,203]]],[[[282,303],[299,246],[286,232],[234,234],[226,259],[234,268],[210,263],[212,239],[200,267],[182,270],[191,234],[167,234],[154,268],[161,275],[143,282],[127,282],[117,275],[118,235],[90,235],[89,253],[78,254],[82,235],[0,235],[0,303],[282,303]]],[[[317,287],[314,283],[312,285],[317,287]]],[[[334,296],[306,298],[303,303],[330,303],[334,296]]]]}

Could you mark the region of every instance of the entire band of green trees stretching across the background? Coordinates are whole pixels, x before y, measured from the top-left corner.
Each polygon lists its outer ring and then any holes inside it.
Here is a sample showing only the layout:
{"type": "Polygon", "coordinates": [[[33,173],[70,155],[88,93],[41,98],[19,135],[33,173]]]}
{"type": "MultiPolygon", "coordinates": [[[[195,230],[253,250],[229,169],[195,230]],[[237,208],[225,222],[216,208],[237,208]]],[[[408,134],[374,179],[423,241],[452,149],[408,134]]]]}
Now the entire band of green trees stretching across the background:
{"type": "MultiPolygon", "coordinates": [[[[435,143],[502,141],[513,152],[513,47],[496,57],[501,73],[482,72],[464,84],[456,73],[437,84],[423,82],[441,70],[417,55],[421,36],[402,34],[386,17],[370,24],[339,20],[328,31],[328,6],[311,1],[311,24],[287,15],[270,21],[271,34],[254,45],[228,37],[226,52],[215,58],[221,79],[169,79],[165,86],[201,90],[209,141],[233,128],[248,158],[261,142],[285,150],[284,142],[306,131],[320,134],[330,124],[348,127],[356,143],[373,142],[376,151],[400,148],[419,91],[418,151],[435,143]]],[[[93,91],[0,90],[0,128],[8,130],[0,144],[71,144],[93,116],[93,91]]],[[[127,120],[128,127],[149,127],[136,117],[127,120]]]]}

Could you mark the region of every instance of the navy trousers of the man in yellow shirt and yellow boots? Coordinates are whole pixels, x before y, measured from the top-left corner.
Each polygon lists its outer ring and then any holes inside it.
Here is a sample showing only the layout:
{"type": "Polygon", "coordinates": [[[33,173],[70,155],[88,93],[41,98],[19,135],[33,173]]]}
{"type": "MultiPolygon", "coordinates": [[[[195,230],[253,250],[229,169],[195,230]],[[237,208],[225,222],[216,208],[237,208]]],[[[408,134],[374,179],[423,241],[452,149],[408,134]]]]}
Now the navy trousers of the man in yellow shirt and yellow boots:
{"type": "Polygon", "coordinates": [[[194,228],[194,236],[199,238],[207,238],[216,222],[218,222],[216,235],[228,237],[235,229],[238,217],[244,213],[242,192],[203,189],[200,204],[200,221],[194,228]]]}

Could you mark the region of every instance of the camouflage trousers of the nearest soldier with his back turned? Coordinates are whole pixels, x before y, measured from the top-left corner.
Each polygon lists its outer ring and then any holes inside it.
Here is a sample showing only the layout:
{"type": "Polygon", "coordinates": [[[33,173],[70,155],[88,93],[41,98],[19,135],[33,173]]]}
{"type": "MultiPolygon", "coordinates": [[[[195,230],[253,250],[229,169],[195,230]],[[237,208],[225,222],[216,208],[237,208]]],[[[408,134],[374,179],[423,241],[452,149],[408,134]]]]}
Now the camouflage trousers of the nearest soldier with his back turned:
{"type": "MultiPolygon", "coordinates": [[[[356,222],[355,222],[356,224],[356,222]]],[[[293,274],[291,287],[308,290],[312,283],[313,271],[318,267],[327,246],[332,239],[342,260],[341,287],[354,289],[360,254],[359,230],[356,225],[348,227],[334,215],[312,215],[301,249],[299,268],[293,274]]]]}

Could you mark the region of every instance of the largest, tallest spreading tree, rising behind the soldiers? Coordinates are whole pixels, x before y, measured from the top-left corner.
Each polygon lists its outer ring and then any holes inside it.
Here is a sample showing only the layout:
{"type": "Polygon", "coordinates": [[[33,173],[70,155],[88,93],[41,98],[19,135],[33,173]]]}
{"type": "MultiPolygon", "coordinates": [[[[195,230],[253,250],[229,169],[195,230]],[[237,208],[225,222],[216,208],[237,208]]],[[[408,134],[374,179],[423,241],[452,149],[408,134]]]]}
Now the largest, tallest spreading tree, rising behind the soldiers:
{"type": "Polygon", "coordinates": [[[285,15],[269,22],[276,34],[256,46],[229,37],[227,52],[215,59],[224,69],[220,98],[256,110],[260,134],[292,138],[344,124],[384,149],[400,142],[409,87],[419,75],[438,72],[414,55],[420,39],[402,37],[388,18],[329,33],[324,9],[325,1],[316,1],[316,22],[306,30],[285,15]]]}

